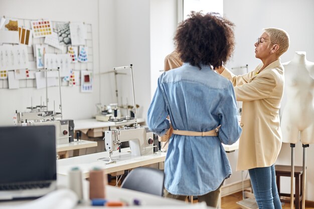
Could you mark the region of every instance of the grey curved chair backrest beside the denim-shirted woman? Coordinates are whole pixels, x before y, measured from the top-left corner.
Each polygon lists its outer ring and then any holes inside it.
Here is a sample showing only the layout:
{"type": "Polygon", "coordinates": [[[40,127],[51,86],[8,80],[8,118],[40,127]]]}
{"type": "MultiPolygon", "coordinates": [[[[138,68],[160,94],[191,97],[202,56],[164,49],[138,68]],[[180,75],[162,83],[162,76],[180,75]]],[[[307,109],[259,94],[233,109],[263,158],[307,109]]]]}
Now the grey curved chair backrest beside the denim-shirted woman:
{"type": "Polygon", "coordinates": [[[138,167],[123,180],[121,187],[163,196],[165,173],[150,167],[138,167]]]}

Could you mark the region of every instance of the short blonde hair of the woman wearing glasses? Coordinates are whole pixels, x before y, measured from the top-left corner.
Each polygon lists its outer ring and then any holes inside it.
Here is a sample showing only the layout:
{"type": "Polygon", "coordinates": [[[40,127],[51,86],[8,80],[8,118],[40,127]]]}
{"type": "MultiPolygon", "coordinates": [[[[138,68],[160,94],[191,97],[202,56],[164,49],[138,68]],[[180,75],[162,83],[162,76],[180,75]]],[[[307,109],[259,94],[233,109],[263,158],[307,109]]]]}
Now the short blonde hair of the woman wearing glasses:
{"type": "Polygon", "coordinates": [[[278,28],[266,28],[263,30],[268,35],[271,42],[279,45],[279,50],[277,52],[279,57],[288,50],[290,39],[286,31],[278,28]]]}

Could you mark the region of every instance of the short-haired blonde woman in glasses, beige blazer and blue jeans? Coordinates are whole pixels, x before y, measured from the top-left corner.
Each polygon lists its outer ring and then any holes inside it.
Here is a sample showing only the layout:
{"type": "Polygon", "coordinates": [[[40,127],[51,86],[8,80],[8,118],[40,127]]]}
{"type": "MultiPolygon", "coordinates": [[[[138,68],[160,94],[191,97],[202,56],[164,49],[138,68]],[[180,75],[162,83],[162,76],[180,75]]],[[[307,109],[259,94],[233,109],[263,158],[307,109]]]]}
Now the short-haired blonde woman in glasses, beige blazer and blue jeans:
{"type": "Polygon", "coordinates": [[[216,71],[232,82],[237,101],[243,102],[237,170],[249,170],[259,209],[278,209],[274,163],[282,143],[279,108],[284,86],[279,57],[288,50],[289,36],[267,28],[254,46],[262,63],[252,72],[235,76],[224,66],[216,71]]]}

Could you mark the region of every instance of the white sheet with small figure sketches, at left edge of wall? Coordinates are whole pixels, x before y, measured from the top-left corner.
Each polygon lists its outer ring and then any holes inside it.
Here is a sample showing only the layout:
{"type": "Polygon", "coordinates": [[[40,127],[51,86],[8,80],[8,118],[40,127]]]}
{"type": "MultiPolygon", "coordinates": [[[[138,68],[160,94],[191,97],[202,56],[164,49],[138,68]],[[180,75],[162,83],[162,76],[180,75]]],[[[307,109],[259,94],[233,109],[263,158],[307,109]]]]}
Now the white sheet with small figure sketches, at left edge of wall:
{"type": "Polygon", "coordinates": [[[16,70],[28,67],[29,59],[25,45],[0,46],[0,69],[16,70]]]}

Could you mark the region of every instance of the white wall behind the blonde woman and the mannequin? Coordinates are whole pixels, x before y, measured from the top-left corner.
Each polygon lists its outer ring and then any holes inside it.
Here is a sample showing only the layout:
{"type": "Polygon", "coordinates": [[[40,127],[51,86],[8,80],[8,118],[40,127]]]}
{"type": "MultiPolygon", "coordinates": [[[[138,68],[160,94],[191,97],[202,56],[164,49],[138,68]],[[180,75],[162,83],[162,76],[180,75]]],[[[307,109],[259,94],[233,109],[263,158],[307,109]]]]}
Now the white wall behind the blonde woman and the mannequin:
{"type": "MultiPolygon", "coordinates": [[[[290,35],[290,48],[281,56],[281,61],[290,61],[295,51],[305,51],[307,60],[314,61],[314,2],[310,0],[278,0],[278,1],[250,1],[224,0],[224,16],[235,23],[236,47],[227,67],[238,67],[248,64],[253,70],[260,60],[255,58],[254,43],[261,35],[263,28],[282,28],[290,35]]],[[[307,148],[307,183],[306,200],[314,200],[314,147],[307,148]]],[[[229,154],[230,155],[230,154],[229,154]]],[[[232,167],[235,165],[237,154],[229,157],[232,167]]],[[[290,164],[289,144],[283,144],[277,164],[290,164]]],[[[302,165],[302,149],[297,144],[295,148],[295,165],[302,165]]],[[[234,172],[235,177],[237,174],[234,172]]],[[[240,176],[240,175],[239,175],[240,176]]],[[[289,178],[283,178],[281,190],[290,192],[289,178]]]]}

